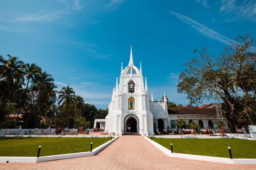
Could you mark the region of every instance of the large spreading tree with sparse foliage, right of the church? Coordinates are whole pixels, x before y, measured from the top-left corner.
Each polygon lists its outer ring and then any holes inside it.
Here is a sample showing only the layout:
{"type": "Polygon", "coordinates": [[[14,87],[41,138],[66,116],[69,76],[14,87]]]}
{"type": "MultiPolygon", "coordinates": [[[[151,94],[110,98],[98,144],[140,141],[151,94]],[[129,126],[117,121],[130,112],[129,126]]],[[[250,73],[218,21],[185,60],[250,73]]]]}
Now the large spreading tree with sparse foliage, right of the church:
{"type": "Polygon", "coordinates": [[[191,104],[203,99],[219,97],[224,101],[223,112],[232,133],[236,132],[237,114],[241,112],[234,83],[243,82],[247,75],[255,80],[255,41],[248,34],[238,36],[224,48],[219,56],[208,48],[194,50],[199,55],[184,65],[188,68],[180,74],[178,92],[187,93],[191,104]],[[250,71],[251,70],[251,71],[250,71]]]}

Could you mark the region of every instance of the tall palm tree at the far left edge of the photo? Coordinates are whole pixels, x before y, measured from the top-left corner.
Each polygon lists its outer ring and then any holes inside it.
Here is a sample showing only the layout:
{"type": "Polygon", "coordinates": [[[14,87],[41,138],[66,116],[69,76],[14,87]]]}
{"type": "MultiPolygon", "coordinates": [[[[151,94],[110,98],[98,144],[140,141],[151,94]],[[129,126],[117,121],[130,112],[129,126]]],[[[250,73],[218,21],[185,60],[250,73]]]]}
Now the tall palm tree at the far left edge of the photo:
{"type": "Polygon", "coordinates": [[[23,75],[25,74],[24,70],[24,63],[21,60],[18,60],[18,57],[12,57],[9,54],[7,55],[9,59],[4,60],[0,57],[1,69],[3,72],[0,76],[0,79],[5,78],[5,85],[2,91],[1,101],[0,101],[0,110],[3,104],[4,92],[8,82],[13,83],[14,79],[19,80],[21,83],[24,82],[23,75]]]}

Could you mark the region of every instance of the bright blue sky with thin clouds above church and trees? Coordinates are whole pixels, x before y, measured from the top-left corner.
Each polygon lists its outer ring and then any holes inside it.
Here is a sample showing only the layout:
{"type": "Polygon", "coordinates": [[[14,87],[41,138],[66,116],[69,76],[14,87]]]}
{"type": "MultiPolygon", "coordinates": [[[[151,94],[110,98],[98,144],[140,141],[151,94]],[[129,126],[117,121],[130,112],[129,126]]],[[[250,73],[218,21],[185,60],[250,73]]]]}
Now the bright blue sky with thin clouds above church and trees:
{"type": "MultiPolygon", "coordinates": [[[[178,94],[183,63],[194,49],[217,55],[250,33],[256,38],[256,1],[0,0],[0,54],[36,63],[97,108],[108,108],[121,63],[142,63],[154,100],[163,93],[184,106],[178,94]],[[230,39],[231,38],[231,39],[230,39]]],[[[204,101],[203,104],[212,101],[204,101]]],[[[201,104],[199,104],[201,106],[201,104]]]]}

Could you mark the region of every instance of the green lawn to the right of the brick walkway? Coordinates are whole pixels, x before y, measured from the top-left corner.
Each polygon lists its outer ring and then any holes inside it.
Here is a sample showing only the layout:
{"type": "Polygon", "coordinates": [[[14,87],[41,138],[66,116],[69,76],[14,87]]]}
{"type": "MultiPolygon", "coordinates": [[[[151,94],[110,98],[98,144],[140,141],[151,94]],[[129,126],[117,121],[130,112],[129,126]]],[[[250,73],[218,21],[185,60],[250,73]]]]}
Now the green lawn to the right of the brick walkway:
{"type": "MultiPolygon", "coordinates": [[[[151,139],[151,137],[150,137],[151,139]]],[[[229,157],[228,146],[233,158],[256,158],[256,141],[244,139],[168,139],[156,138],[153,140],[174,153],[193,155],[229,157]]]]}

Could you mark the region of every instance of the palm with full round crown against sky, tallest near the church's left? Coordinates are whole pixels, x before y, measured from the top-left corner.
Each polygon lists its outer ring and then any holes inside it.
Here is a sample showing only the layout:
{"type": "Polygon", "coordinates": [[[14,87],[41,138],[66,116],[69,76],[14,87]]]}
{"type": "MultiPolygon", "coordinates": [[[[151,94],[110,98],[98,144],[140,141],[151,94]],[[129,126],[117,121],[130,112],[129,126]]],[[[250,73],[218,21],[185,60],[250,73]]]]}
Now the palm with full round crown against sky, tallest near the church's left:
{"type": "MultiPolygon", "coordinates": [[[[73,89],[71,87],[69,87],[69,85],[67,87],[63,87],[61,89],[61,91],[59,91],[58,93],[60,94],[57,99],[57,100],[59,100],[58,105],[61,104],[61,102],[62,102],[61,110],[63,109],[64,106],[69,107],[71,104],[74,103],[76,95],[75,95],[75,92],[73,91],[73,89]]],[[[60,111],[56,117],[54,128],[56,128],[56,122],[57,122],[59,114],[60,114],[60,111]]]]}

